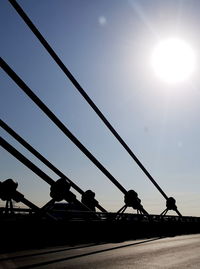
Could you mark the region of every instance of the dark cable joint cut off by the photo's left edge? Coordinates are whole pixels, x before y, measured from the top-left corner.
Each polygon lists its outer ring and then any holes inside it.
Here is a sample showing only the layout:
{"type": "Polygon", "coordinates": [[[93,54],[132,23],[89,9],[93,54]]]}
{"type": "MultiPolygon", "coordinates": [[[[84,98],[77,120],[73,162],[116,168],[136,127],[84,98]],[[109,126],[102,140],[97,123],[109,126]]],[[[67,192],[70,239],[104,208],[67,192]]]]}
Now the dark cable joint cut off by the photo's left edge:
{"type": "Polygon", "coordinates": [[[18,183],[14,182],[11,178],[6,179],[0,184],[0,199],[8,201],[14,199],[16,195],[18,183]]]}

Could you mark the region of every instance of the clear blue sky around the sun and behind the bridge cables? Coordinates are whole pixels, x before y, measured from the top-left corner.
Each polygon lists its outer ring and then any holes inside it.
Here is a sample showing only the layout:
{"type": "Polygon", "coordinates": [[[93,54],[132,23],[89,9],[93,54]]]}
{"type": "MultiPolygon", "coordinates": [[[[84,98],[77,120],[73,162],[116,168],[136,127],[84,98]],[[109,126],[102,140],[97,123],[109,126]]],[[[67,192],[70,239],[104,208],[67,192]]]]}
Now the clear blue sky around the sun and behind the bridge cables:
{"type": "MultiPolygon", "coordinates": [[[[88,95],[184,215],[200,216],[200,2],[191,0],[20,0],[88,95]],[[194,51],[196,67],[181,83],[160,80],[151,55],[176,37],[194,51]]],[[[165,200],[83,100],[6,0],[0,1],[1,56],[144,208],[159,214],[165,200]]],[[[83,190],[92,189],[109,211],[123,195],[0,71],[1,118],[83,190]]],[[[1,135],[48,173],[14,139],[1,135]]],[[[49,186],[0,150],[1,180],[39,206],[49,186]]],[[[76,192],[74,192],[76,193],[76,192]]],[[[77,193],[76,193],[77,194],[77,193]]],[[[77,194],[79,198],[79,195],[77,194]]],[[[0,202],[2,205],[2,202],[0,202]]]]}

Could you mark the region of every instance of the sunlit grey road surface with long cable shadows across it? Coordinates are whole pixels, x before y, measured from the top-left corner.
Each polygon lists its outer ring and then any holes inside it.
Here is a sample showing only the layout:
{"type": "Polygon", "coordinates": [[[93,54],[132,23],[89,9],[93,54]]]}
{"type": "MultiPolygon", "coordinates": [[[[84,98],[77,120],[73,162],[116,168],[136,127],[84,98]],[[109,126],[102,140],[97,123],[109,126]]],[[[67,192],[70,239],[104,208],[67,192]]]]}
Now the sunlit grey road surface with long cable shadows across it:
{"type": "Polygon", "coordinates": [[[0,254],[0,268],[200,268],[200,234],[0,254]]]}

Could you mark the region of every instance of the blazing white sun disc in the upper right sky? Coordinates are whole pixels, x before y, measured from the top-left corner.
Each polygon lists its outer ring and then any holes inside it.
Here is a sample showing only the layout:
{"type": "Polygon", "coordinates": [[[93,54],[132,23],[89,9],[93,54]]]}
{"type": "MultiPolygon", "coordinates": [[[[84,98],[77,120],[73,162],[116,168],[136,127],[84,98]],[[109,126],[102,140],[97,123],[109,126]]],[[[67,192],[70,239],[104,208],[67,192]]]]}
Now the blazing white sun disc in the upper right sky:
{"type": "Polygon", "coordinates": [[[185,41],[168,38],[154,48],[151,64],[157,77],[169,84],[188,80],[195,69],[193,49],[185,41]]]}

